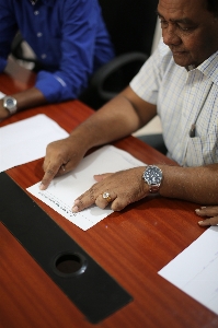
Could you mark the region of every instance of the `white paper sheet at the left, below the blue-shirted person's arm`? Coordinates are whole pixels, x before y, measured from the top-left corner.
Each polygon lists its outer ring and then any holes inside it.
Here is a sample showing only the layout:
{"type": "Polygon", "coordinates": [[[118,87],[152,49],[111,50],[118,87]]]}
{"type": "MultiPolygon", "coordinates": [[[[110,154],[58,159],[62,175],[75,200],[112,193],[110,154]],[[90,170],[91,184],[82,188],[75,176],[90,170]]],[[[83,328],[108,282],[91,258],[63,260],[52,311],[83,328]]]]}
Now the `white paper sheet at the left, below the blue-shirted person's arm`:
{"type": "Polygon", "coordinates": [[[43,114],[0,128],[0,172],[45,156],[49,142],[66,137],[68,133],[43,114]]]}

